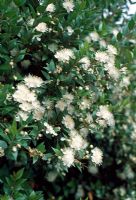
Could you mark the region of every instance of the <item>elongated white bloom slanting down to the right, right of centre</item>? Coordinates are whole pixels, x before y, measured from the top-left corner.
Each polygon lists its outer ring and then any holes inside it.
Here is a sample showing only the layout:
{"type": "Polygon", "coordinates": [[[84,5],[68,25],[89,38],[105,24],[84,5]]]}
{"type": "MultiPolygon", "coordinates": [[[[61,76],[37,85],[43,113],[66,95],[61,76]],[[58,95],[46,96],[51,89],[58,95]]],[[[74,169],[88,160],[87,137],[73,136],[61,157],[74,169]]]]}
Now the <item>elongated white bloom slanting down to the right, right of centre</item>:
{"type": "Polygon", "coordinates": [[[108,110],[107,106],[100,106],[99,111],[96,115],[100,119],[104,119],[109,126],[115,125],[115,120],[113,114],[108,110]]]}

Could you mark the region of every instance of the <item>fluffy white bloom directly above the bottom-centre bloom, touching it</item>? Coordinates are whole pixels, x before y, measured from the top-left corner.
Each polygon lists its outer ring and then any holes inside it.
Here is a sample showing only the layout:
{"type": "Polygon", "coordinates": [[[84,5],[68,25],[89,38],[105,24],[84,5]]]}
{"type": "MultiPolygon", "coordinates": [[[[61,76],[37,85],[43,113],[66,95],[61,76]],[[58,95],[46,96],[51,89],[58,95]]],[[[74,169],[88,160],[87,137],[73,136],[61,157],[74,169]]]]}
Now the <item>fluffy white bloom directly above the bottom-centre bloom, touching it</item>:
{"type": "Polygon", "coordinates": [[[79,135],[78,133],[74,134],[71,131],[69,145],[70,145],[71,148],[73,148],[73,149],[78,151],[78,150],[84,149],[87,146],[87,143],[81,137],[81,135],[79,135]]]}

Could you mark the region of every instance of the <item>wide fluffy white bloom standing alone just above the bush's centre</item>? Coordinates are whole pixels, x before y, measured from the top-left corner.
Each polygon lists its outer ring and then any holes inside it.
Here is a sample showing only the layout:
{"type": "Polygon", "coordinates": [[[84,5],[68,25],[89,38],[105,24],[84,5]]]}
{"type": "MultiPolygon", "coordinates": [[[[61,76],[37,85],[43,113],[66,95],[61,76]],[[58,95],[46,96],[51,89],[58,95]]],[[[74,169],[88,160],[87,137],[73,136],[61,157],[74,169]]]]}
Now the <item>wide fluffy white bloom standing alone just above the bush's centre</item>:
{"type": "Polygon", "coordinates": [[[74,58],[74,53],[71,49],[62,49],[54,55],[58,61],[68,63],[71,58],[74,58]]]}

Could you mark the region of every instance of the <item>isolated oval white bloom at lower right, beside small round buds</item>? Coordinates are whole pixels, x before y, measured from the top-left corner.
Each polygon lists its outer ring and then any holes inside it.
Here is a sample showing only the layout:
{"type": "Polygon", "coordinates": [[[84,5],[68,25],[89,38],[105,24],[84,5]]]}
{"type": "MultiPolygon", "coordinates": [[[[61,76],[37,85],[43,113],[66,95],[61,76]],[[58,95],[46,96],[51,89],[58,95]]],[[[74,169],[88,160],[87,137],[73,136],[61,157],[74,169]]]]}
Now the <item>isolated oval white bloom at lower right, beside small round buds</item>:
{"type": "Polygon", "coordinates": [[[91,156],[92,162],[95,163],[96,165],[101,165],[103,158],[102,151],[98,147],[95,147],[91,152],[92,152],[91,156]]]}

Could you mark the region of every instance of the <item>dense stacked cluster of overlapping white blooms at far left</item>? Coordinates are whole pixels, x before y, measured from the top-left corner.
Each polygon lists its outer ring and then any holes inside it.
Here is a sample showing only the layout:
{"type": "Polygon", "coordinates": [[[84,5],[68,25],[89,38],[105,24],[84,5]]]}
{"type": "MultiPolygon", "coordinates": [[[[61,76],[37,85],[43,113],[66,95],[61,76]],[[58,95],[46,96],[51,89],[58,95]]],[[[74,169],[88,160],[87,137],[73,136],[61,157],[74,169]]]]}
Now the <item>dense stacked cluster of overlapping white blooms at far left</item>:
{"type": "Polygon", "coordinates": [[[36,88],[42,85],[41,78],[28,75],[24,78],[24,84],[18,84],[13,94],[14,101],[19,103],[19,112],[16,115],[17,120],[20,118],[27,120],[30,113],[33,113],[34,119],[40,120],[44,114],[44,108],[37,99],[36,88]],[[31,89],[32,88],[32,89],[31,89]]]}

